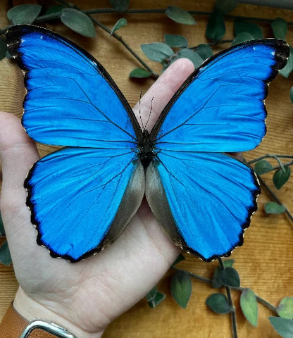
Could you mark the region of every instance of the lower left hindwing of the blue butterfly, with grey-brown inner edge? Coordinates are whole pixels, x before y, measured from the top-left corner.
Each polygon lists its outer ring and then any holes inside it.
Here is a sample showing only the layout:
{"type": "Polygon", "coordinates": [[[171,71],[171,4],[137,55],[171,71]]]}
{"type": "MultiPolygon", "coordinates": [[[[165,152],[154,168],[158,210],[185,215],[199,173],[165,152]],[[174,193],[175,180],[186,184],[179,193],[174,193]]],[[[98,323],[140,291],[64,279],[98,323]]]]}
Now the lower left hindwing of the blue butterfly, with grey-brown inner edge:
{"type": "Polygon", "coordinates": [[[144,196],[133,151],[66,147],[37,161],[25,180],[37,242],[80,261],[115,242],[144,196]]]}

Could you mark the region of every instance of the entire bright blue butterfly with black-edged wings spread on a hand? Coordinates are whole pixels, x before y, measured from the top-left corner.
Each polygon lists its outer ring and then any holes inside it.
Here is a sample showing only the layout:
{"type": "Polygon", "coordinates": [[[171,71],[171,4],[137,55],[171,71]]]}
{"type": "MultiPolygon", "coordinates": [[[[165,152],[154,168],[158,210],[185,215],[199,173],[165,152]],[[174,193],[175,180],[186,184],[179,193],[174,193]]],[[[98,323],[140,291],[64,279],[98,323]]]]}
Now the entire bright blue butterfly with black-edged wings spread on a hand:
{"type": "Polygon", "coordinates": [[[254,149],[266,134],[268,82],[287,63],[278,39],[232,46],[182,84],[151,132],[87,51],[40,27],[7,34],[25,73],[23,127],[66,146],[25,180],[37,242],[71,262],[111,245],[144,194],[180,248],[211,261],[242,245],[256,211],[253,170],[226,152],[254,149]]]}

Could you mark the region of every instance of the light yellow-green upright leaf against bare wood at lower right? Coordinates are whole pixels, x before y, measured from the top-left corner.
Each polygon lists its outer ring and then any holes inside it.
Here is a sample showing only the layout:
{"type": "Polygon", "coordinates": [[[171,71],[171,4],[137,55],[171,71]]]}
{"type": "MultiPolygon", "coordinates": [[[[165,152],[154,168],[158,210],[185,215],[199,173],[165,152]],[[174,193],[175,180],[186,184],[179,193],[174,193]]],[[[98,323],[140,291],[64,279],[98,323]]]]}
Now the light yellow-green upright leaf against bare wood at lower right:
{"type": "Polygon", "coordinates": [[[244,289],[240,296],[240,306],[245,318],[251,325],[257,326],[258,320],[258,303],[254,292],[247,288],[244,289]]]}

